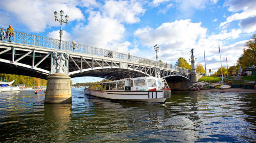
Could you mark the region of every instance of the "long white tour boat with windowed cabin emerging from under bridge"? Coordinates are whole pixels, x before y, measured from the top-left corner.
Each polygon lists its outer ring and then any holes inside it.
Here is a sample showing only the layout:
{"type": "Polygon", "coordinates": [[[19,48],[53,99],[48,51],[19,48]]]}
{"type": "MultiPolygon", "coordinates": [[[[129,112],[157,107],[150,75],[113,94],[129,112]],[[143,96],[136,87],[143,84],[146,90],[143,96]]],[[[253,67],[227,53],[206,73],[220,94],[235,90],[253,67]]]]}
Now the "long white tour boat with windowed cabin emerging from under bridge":
{"type": "Polygon", "coordinates": [[[91,83],[84,92],[105,99],[162,104],[170,97],[170,89],[165,79],[152,76],[91,83]]]}

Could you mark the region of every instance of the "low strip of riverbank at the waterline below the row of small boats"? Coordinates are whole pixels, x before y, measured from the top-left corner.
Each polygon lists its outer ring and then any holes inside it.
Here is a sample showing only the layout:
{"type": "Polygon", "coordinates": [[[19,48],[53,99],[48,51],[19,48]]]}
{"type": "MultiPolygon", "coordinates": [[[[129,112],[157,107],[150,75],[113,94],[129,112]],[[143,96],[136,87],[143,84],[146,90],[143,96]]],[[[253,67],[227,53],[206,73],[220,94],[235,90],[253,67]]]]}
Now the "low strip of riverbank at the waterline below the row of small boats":
{"type": "MultiPolygon", "coordinates": [[[[198,92],[198,91],[193,91],[198,92]]],[[[256,89],[242,89],[242,88],[230,88],[230,89],[205,89],[200,92],[236,92],[236,93],[256,93],[256,89]]]]}

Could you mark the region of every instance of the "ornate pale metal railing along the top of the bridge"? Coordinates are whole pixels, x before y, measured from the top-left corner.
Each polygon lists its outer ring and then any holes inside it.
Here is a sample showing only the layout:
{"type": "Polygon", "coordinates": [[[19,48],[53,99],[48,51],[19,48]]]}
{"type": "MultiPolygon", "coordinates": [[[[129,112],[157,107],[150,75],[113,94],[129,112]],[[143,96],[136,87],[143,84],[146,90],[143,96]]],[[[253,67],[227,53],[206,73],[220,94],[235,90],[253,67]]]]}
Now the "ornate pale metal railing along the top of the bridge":
{"type": "MultiPolygon", "coordinates": [[[[14,42],[14,43],[28,44],[33,46],[47,47],[52,49],[59,49],[59,40],[57,39],[41,37],[37,35],[31,35],[31,34],[26,34],[26,33],[21,33],[16,31],[8,31],[5,29],[0,30],[0,40],[14,42]]],[[[72,42],[61,41],[61,49],[67,50],[67,51],[73,51],[72,42]]],[[[113,59],[122,60],[122,61],[131,61],[135,63],[154,65],[162,68],[172,69],[179,72],[185,72],[185,73],[189,72],[188,69],[184,69],[178,66],[167,64],[167,63],[156,62],[154,60],[140,58],[139,56],[120,53],[120,52],[88,46],[88,45],[76,44],[74,51],[84,53],[84,54],[113,58],[113,59]]]]}

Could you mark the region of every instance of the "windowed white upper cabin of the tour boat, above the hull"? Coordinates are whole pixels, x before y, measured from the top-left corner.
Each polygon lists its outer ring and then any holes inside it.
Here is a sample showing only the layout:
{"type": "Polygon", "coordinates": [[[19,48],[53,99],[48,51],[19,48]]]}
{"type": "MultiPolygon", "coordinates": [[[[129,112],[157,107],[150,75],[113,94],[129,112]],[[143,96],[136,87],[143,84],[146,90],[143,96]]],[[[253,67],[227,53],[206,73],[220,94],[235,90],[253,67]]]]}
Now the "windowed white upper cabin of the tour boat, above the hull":
{"type": "Polygon", "coordinates": [[[89,90],[105,91],[148,91],[168,89],[165,79],[156,77],[125,78],[115,81],[89,84],[89,90]]]}

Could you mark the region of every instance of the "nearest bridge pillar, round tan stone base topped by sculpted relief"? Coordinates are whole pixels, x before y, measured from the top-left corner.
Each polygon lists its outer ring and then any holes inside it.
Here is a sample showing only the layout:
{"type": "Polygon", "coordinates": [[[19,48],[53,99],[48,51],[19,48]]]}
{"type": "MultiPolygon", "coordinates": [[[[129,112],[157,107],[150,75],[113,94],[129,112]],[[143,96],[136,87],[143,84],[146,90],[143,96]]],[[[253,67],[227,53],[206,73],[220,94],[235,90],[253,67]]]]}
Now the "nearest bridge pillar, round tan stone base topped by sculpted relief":
{"type": "Polygon", "coordinates": [[[51,75],[47,77],[45,103],[72,102],[69,71],[69,53],[52,52],[51,75]]]}

